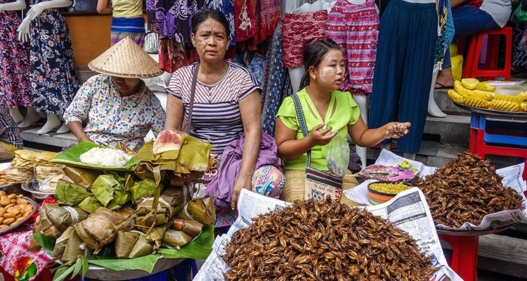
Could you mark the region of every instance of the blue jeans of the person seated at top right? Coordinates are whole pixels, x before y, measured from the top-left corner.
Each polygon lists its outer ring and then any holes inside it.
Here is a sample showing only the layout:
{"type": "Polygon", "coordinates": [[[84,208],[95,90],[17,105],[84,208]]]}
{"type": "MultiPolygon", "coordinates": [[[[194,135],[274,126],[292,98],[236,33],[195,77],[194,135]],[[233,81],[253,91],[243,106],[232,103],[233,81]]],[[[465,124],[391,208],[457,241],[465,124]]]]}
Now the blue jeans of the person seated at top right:
{"type": "MultiPolygon", "coordinates": [[[[481,30],[492,30],[500,27],[493,18],[479,8],[464,6],[452,10],[455,33],[454,37],[465,37],[481,30]]],[[[443,67],[452,67],[450,51],[446,52],[443,67]]]]}

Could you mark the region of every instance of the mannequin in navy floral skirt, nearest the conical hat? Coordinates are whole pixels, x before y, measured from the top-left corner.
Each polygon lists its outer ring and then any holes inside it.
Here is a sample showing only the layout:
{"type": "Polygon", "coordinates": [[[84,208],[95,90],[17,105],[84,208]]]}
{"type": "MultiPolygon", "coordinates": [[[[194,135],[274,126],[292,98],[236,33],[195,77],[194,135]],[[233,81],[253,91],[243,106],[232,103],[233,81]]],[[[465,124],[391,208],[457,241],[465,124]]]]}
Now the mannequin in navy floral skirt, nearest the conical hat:
{"type": "Polygon", "coordinates": [[[70,32],[55,8],[72,5],[71,0],[30,0],[32,8],[18,27],[20,41],[30,41],[30,81],[33,106],[46,112],[47,121],[37,133],[67,133],[58,115],[70,105],[79,85],[70,32]],[[62,126],[61,126],[62,125],[62,126]]]}

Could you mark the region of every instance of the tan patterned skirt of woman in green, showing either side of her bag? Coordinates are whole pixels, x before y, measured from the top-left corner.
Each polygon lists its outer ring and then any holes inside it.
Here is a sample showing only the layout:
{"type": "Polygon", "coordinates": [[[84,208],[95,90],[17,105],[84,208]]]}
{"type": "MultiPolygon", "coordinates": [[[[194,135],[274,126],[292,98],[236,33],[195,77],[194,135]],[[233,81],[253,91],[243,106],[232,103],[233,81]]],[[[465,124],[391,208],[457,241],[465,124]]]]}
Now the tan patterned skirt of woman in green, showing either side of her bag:
{"type": "MultiPolygon", "coordinates": [[[[285,186],[280,193],[280,199],[287,202],[294,202],[294,200],[304,201],[304,193],[306,192],[306,171],[285,170],[285,186]]],[[[358,185],[356,178],[350,171],[346,171],[342,178],[343,196],[340,197],[340,202],[350,207],[360,206],[357,202],[349,200],[344,195],[344,190],[354,188],[358,185]]]]}

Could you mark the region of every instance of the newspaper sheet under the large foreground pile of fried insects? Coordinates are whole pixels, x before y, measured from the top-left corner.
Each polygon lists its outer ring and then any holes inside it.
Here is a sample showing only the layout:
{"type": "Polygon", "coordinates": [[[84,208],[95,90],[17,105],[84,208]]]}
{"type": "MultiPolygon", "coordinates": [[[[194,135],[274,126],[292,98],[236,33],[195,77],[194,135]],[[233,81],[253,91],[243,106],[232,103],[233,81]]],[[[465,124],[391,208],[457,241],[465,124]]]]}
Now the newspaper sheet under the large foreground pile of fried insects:
{"type": "MultiPolygon", "coordinates": [[[[251,218],[265,214],[268,211],[282,209],[288,204],[290,203],[264,197],[248,190],[242,190],[238,200],[239,216],[237,220],[226,235],[216,237],[212,246],[212,253],[194,277],[194,281],[225,280],[223,273],[227,270],[227,264],[221,256],[225,254],[224,247],[233,233],[242,228],[247,228],[252,223],[251,218]]],[[[388,219],[417,240],[419,248],[422,251],[426,251],[431,257],[433,266],[440,267],[429,280],[441,281],[450,279],[462,281],[447,264],[436,233],[434,221],[421,190],[418,188],[405,190],[390,202],[366,207],[366,209],[372,214],[388,219]]]]}

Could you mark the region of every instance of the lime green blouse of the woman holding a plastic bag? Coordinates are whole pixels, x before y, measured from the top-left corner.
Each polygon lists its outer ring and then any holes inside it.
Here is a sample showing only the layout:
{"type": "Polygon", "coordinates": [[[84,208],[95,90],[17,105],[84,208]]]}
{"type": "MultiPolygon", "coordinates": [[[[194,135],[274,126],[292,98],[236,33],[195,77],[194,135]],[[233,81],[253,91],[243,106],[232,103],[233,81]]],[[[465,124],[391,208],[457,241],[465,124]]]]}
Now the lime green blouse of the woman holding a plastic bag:
{"type": "MultiPolygon", "coordinates": [[[[327,113],[324,119],[318,115],[318,111],[316,110],[311,98],[309,98],[305,88],[301,89],[297,95],[299,96],[302,110],[304,110],[307,129],[310,133],[314,126],[323,123],[325,120],[325,124],[331,126],[332,131],[339,131],[339,136],[341,138],[346,138],[348,135],[348,125],[355,124],[360,116],[358,105],[355,103],[355,100],[353,100],[353,97],[349,92],[332,91],[330,105],[327,107],[327,113]],[[335,103],[337,106],[334,114],[331,115],[335,103]]],[[[285,98],[282,105],[280,105],[276,117],[280,117],[280,120],[285,126],[287,126],[287,128],[297,131],[297,140],[304,138],[304,134],[302,134],[302,130],[298,123],[297,112],[294,109],[294,101],[291,97],[285,98]]],[[[289,170],[305,170],[306,157],[307,153],[304,153],[300,157],[294,159],[283,159],[282,162],[284,168],[289,170]]],[[[315,147],[311,148],[311,166],[321,171],[328,170],[325,146],[315,145],[315,147]]]]}

